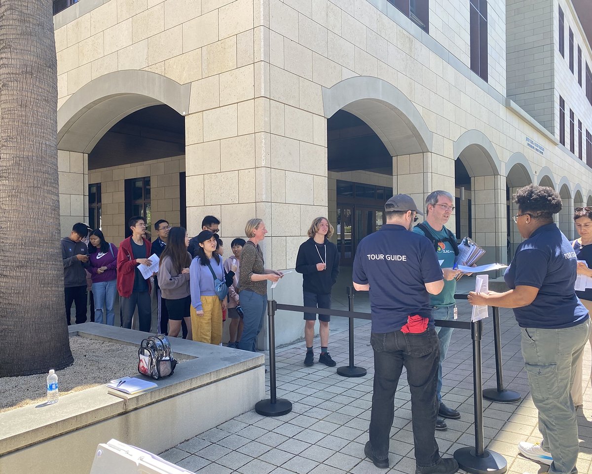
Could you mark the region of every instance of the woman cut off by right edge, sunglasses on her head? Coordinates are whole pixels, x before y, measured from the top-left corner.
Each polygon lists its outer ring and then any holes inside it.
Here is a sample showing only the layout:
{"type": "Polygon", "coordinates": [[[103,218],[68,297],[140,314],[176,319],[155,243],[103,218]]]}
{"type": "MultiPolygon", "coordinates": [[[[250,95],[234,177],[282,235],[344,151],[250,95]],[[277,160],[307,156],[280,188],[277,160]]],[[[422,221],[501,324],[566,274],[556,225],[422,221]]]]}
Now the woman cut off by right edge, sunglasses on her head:
{"type": "MultiPolygon", "coordinates": [[[[584,275],[592,278],[592,207],[576,207],[574,209],[575,229],[580,234],[579,239],[572,242],[575,255],[578,258],[578,275],[584,275]],[[585,264],[581,262],[585,261],[585,264]]],[[[580,298],[582,304],[588,310],[592,311],[592,288],[586,288],[583,292],[575,292],[580,298]]],[[[590,345],[592,346],[592,335],[590,336],[590,345]]],[[[576,408],[583,406],[584,399],[582,393],[582,365],[584,353],[578,358],[577,366],[575,366],[574,385],[571,386],[571,398],[574,401],[576,408]]],[[[592,373],[590,374],[592,380],[592,373]]]]}

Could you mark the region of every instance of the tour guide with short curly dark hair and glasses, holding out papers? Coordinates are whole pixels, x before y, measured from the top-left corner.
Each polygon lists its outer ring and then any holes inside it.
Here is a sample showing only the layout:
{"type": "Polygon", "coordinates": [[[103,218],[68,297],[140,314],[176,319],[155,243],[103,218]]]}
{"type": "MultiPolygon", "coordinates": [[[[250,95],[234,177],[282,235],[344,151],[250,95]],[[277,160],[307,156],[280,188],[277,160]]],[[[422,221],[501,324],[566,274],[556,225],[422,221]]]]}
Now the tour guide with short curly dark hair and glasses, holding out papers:
{"type": "Polygon", "coordinates": [[[514,222],[526,240],[506,269],[504,293],[469,293],[471,305],[513,308],[522,332],[522,356],[530,395],[539,411],[540,443],[518,444],[549,472],[577,472],[579,440],[570,395],[575,366],[590,337],[588,310],[574,291],[577,256],[553,215],[562,207],[557,191],[530,184],[514,195],[514,222]]]}

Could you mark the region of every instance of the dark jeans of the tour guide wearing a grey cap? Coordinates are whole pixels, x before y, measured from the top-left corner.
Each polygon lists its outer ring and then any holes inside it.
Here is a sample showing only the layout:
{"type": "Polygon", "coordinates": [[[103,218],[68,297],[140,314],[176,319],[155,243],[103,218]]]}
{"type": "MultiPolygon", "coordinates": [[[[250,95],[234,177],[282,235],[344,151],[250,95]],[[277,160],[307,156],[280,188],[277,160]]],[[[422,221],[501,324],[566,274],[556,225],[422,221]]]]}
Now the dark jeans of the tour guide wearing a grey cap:
{"type": "Polygon", "coordinates": [[[433,466],[440,461],[436,438],[436,383],[440,344],[436,331],[422,334],[401,331],[372,333],[374,349],[374,393],[370,419],[370,445],[379,459],[388,456],[388,444],[394,417],[395,392],[403,367],[411,392],[411,422],[417,466],[433,466]]]}

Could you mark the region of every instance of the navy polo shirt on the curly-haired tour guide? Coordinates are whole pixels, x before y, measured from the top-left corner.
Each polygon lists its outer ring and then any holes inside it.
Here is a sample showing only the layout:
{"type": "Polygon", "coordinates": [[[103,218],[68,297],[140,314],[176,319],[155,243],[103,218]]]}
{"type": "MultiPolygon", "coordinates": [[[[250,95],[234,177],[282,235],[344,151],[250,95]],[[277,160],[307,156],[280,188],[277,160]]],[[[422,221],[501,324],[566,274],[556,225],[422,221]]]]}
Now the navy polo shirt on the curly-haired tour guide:
{"type": "Polygon", "coordinates": [[[577,257],[570,241],[553,223],[540,226],[516,249],[504,280],[510,289],[539,289],[528,306],[514,308],[522,328],[569,328],[588,319],[588,310],[575,295],[577,257]]]}

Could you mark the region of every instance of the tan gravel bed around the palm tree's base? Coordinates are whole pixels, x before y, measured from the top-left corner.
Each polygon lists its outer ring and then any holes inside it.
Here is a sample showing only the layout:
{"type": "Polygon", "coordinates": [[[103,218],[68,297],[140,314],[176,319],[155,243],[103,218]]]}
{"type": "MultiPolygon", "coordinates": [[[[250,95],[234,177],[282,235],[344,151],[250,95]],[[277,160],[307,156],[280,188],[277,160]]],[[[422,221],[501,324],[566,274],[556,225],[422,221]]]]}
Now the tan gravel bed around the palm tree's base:
{"type": "MultiPolygon", "coordinates": [[[[60,397],[138,373],[135,345],[70,337],[74,363],[58,370],[60,397]]],[[[46,400],[47,374],[0,379],[0,413],[46,400]]]]}

